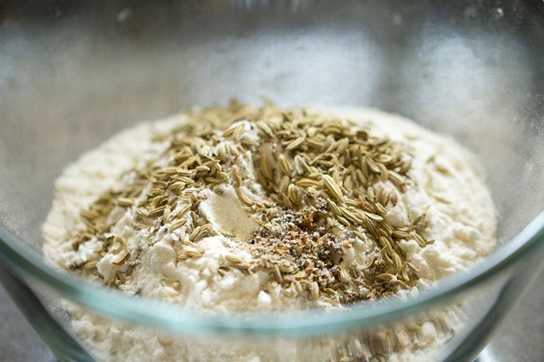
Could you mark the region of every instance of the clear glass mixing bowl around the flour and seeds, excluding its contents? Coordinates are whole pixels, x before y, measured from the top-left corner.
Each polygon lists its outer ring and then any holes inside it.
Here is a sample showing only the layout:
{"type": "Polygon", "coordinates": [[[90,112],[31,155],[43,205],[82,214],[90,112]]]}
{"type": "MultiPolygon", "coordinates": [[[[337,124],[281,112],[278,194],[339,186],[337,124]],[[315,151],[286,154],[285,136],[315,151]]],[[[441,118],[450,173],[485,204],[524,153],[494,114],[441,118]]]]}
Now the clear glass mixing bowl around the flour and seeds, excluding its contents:
{"type": "Polygon", "coordinates": [[[473,359],[544,255],[544,12],[537,1],[504,3],[3,2],[6,289],[63,361],[120,360],[108,343],[131,332],[147,336],[134,353],[157,359],[393,360],[402,345],[421,347],[414,360],[473,359]],[[403,300],[268,315],[187,312],[44,262],[53,181],[84,151],[184,107],[263,97],[372,106],[457,139],[487,170],[500,248],[403,300]],[[83,345],[67,310],[111,325],[94,336],[102,351],[83,345]]]}

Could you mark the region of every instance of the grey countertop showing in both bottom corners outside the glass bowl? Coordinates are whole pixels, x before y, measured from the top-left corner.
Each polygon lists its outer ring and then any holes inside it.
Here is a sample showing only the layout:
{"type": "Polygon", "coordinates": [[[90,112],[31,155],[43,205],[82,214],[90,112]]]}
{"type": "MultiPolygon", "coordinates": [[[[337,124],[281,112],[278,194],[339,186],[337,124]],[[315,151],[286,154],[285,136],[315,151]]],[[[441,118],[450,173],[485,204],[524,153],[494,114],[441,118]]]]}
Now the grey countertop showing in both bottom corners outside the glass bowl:
{"type": "MultiPolygon", "coordinates": [[[[544,271],[516,304],[479,362],[541,362],[544,356],[544,271]]],[[[0,362],[56,358],[0,286],[0,362]]]]}

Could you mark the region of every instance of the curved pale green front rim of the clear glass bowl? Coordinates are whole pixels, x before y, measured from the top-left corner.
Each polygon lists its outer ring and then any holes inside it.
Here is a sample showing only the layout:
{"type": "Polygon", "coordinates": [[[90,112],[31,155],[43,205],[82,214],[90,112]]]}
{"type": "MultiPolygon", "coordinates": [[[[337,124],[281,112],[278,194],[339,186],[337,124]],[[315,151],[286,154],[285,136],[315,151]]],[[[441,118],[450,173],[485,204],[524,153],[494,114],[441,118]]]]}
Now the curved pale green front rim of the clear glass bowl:
{"type": "MultiPolygon", "coordinates": [[[[0,225],[0,259],[10,271],[26,281],[40,284],[63,298],[81,304],[105,318],[168,330],[181,334],[219,333],[229,336],[309,337],[323,332],[350,328],[369,328],[450,300],[469,291],[502,271],[507,271],[525,256],[544,246],[544,211],[541,211],[510,242],[471,271],[443,280],[435,288],[407,300],[387,300],[355,306],[350,310],[300,310],[273,313],[229,313],[209,315],[187,311],[179,306],[134,298],[121,291],[99,288],[83,278],[55,270],[37,252],[29,250],[0,225]],[[250,318],[248,318],[248,316],[250,318]]],[[[34,284],[33,284],[34,285],[34,284]]]]}

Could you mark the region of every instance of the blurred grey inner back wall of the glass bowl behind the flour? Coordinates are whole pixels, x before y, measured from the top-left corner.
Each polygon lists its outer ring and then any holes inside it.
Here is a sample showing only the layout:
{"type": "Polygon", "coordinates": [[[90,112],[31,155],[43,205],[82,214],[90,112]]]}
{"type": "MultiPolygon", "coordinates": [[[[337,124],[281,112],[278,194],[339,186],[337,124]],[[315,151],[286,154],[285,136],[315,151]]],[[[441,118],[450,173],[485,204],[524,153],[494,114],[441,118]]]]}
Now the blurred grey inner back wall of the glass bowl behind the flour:
{"type": "Polygon", "coordinates": [[[500,243],[542,210],[530,2],[33,3],[0,12],[0,224],[39,254],[63,167],[131,124],[231,98],[376,107],[451,135],[486,169],[500,243]]]}

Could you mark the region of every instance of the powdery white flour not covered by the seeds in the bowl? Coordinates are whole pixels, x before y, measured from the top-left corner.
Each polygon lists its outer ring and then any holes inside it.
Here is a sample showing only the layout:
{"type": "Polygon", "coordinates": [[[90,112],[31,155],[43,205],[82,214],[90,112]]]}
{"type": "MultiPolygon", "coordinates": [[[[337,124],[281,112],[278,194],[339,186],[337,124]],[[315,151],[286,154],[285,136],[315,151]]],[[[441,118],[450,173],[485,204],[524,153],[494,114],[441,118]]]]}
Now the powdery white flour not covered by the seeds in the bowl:
{"type": "MultiPolygon", "coordinates": [[[[419,287],[432,286],[435,281],[452,272],[466,270],[493,250],[496,221],[491,197],[482,182],[480,168],[465,149],[448,138],[420,128],[408,119],[378,110],[318,112],[340,119],[371,122],[377,131],[403,143],[413,156],[411,182],[405,192],[400,194],[399,202],[388,209],[385,219],[394,226],[403,226],[408,224],[408,220],[428,215],[427,235],[435,242],[424,248],[414,241],[402,242],[406,260],[412,262],[420,272],[419,287]]],[[[185,119],[184,115],[180,115],[127,129],[68,167],[56,182],[53,209],[44,224],[45,257],[63,268],[87,262],[99,247],[98,244],[84,243],[74,251],[72,244],[65,242],[84,228],[79,216],[80,210],[119,183],[119,178],[126,171],[158,157],[167,145],[152,142],[153,135],[165,132],[183,123],[185,119]]],[[[248,165],[241,168],[251,174],[250,165],[248,161],[248,165]]],[[[248,184],[244,190],[254,199],[264,196],[264,191],[255,184],[248,184]]],[[[215,229],[233,235],[235,239],[247,240],[248,235],[257,228],[257,223],[243,210],[232,186],[225,186],[221,195],[209,190],[205,193],[206,199],[199,205],[199,211],[208,217],[215,229]]],[[[172,210],[172,213],[179,211],[172,210]]],[[[183,237],[183,228],[170,233],[165,227],[159,240],[149,245],[146,233],[129,227],[133,223],[131,217],[128,213],[122,215],[112,228],[112,233],[128,240],[131,250],[141,248],[138,264],[127,277],[121,288],[123,291],[138,292],[149,298],[203,310],[281,310],[297,307],[296,301],[287,298],[277,283],[273,283],[269,273],[264,271],[254,274],[228,272],[219,278],[219,263],[226,255],[235,254],[242,262],[251,259],[244,243],[234,243],[220,234],[210,236],[199,242],[199,248],[204,252],[200,258],[180,263],[177,262],[172,243],[183,237]]],[[[345,251],[343,263],[347,265],[357,262],[364,265],[369,250],[368,243],[355,241],[354,247],[345,251]]],[[[74,272],[95,281],[108,280],[125,268],[116,265],[114,261],[115,256],[107,254],[98,262],[96,267],[100,277],[86,273],[84,269],[74,272]]],[[[302,300],[299,303],[298,307],[307,304],[302,300]]],[[[316,305],[334,308],[323,300],[316,305]]],[[[214,355],[217,352],[210,352],[206,346],[189,348],[189,345],[183,343],[165,343],[163,338],[97,319],[81,310],[72,309],[71,313],[73,329],[103,360],[200,360],[218,357],[214,355]]],[[[311,348],[290,348],[285,350],[287,355],[282,358],[306,359],[307,355],[304,354],[311,352],[311,348]]],[[[236,353],[243,354],[240,360],[249,357],[268,359],[258,357],[250,350],[249,347],[242,347],[236,353]]],[[[323,349],[317,348],[316,351],[319,353],[316,356],[326,356],[323,355],[323,349]]],[[[223,357],[230,358],[228,352],[225,353],[223,357]]]]}

